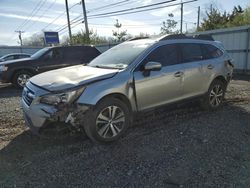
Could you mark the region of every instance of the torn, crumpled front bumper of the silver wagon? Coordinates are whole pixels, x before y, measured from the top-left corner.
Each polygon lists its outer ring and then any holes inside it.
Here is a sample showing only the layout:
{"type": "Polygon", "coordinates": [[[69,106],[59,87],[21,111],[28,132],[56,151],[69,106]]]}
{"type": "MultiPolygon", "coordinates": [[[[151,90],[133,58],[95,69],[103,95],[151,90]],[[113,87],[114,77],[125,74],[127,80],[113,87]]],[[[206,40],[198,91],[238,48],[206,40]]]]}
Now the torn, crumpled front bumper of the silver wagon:
{"type": "Polygon", "coordinates": [[[73,126],[80,126],[84,121],[84,114],[90,106],[84,104],[65,104],[52,106],[39,103],[37,96],[24,89],[22,96],[22,109],[26,125],[32,132],[38,134],[39,130],[53,122],[64,122],[73,126]],[[33,97],[29,103],[28,97],[33,97]]]}

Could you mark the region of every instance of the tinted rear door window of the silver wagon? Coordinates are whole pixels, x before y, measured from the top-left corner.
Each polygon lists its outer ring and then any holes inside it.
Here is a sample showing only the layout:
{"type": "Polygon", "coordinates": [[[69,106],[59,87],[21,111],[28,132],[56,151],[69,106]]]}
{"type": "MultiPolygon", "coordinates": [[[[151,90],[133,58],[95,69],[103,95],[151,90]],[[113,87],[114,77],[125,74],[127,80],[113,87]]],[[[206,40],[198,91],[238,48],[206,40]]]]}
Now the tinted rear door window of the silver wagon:
{"type": "Polygon", "coordinates": [[[203,59],[200,44],[183,43],[180,44],[182,51],[182,62],[188,63],[192,61],[200,61],[203,59]]]}

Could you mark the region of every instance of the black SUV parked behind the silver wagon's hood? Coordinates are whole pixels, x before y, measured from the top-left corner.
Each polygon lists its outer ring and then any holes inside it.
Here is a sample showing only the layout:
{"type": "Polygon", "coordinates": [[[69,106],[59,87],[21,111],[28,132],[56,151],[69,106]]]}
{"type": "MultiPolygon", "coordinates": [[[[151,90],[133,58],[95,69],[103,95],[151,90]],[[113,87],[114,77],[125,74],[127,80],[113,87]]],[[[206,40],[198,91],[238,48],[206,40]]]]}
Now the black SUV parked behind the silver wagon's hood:
{"type": "Polygon", "coordinates": [[[89,63],[100,52],[92,46],[43,48],[30,58],[0,63],[0,81],[22,88],[34,75],[53,69],[89,63]]]}

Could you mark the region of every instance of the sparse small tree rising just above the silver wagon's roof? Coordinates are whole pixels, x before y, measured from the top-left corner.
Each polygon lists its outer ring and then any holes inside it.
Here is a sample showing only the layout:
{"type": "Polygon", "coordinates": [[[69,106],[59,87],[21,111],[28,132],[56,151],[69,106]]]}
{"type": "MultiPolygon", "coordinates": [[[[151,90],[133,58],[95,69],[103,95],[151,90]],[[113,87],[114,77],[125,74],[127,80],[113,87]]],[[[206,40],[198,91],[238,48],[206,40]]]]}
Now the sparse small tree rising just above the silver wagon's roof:
{"type": "Polygon", "coordinates": [[[173,19],[174,15],[171,13],[169,18],[162,22],[161,34],[178,34],[179,30],[175,30],[177,22],[173,19]]]}

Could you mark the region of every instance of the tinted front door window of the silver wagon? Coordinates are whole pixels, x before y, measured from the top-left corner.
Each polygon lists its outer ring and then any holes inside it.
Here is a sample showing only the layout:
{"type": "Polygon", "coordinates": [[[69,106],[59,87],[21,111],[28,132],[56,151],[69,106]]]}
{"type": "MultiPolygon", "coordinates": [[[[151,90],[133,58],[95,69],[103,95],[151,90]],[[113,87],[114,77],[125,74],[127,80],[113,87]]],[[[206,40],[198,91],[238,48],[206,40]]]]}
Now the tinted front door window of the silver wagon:
{"type": "Polygon", "coordinates": [[[162,66],[175,65],[179,63],[177,45],[168,44],[156,48],[144,60],[144,63],[154,61],[159,62],[162,66]]]}

